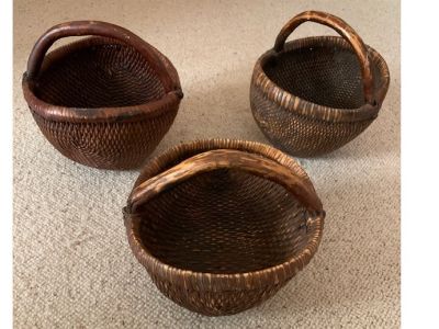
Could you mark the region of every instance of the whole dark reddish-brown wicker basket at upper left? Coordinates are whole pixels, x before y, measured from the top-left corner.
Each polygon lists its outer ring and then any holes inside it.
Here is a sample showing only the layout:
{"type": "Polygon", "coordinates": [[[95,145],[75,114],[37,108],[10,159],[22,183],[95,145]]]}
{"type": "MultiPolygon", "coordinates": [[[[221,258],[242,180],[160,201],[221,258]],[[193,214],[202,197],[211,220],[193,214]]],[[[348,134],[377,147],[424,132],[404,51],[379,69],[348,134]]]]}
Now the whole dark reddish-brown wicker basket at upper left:
{"type": "Polygon", "coordinates": [[[22,84],[54,147],[102,169],[139,167],[168,132],[183,95],[169,59],[130,31],[95,21],[48,30],[30,55],[22,84]],[[79,35],[93,37],[45,56],[58,38],[79,35]]]}

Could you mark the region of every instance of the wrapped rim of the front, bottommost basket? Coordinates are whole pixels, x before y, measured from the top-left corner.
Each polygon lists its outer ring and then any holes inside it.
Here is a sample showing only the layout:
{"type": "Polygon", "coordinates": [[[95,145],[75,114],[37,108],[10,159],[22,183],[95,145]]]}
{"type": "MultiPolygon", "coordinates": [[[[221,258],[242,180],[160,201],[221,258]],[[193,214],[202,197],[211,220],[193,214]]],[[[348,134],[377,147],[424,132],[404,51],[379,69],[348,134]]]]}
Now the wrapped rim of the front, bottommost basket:
{"type": "MultiPolygon", "coordinates": [[[[223,138],[199,139],[192,143],[180,144],[167,150],[161,156],[156,157],[148,162],[148,164],[142,170],[134,188],[143,181],[143,175],[147,174],[153,177],[157,174],[157,172],[162,170],[167,163],[175,161],[188,151],[196,150],[198,152],[202,152],[203,149],[217,148],[239,149],[272,159],[289,167],[291,170],[296,171],[296,173],[301,175],[314,190],[308,175],[302,167],[293,158],[290,158],[282,151],[257,141],[223,138]]],[[[315,214],[314,216],[311,215],[309,218],[312,218],[314,232],[309,237],[308,242],[302,250],[280,264],[241,273],[209,273],[179,269],[154,257],[148,249],[145,248],[139,238],[138,230],[135,227],[137,224],[135,224],[135,220],[133,219],[138,218],[138,216],[128,213],[127,207],[124,207],[123,214],[131,249],[136,259],[146,268],[151,276],[183,286],[184,288],[222,292],[243,288],[257,290],[290,280],[309,262],[317,251],[318,245],[322,240],[325,219],[325,212],[315,214]]]]}

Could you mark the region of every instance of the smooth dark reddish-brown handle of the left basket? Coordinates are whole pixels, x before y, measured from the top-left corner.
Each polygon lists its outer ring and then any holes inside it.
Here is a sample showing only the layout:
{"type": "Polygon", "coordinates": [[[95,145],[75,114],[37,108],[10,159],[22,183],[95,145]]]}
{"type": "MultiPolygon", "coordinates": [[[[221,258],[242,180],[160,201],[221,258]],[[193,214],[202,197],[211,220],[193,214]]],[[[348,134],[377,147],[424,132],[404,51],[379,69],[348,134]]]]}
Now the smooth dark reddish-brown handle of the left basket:
{"type": "Polygon", "coordinates": [[[99,21],[75,21],[57,24],[47,30],[35,43],[27,60],[27,79],[34,79],[41,69],[43,59],[50,46],[59,38],[68,36],[97,35],[119,39],[137,49],[157,72],[165,91],[175,89],[172,79],[156,50],[128,30],[99,21]]]}

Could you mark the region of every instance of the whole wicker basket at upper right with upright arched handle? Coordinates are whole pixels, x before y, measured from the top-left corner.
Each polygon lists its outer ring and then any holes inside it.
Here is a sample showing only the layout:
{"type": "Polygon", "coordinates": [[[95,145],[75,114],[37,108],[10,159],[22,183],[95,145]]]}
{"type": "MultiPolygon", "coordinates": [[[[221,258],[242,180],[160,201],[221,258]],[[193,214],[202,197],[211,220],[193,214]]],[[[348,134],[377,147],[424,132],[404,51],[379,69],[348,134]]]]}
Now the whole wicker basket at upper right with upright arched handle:
{"type": "Polygon", "coordinates": [[[378,116],[390,82],[384,59],[334,15],[308,11],[281,30],[274,48],[256,63],[252,114],[267,138],[299,157],[333,151],[378,116]],[[333,27],[342,37],[316,36],[285,44],[302,23],[333,27]]]}

